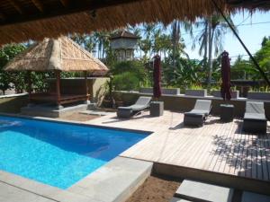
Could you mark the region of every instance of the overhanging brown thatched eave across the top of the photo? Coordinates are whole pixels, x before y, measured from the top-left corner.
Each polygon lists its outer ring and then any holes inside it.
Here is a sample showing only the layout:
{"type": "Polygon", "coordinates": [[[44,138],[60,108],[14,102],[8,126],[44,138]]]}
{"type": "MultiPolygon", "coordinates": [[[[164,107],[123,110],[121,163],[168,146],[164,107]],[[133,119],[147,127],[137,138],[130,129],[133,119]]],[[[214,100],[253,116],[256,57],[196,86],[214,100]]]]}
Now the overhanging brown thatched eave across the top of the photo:
{"type": "MultiPolygon", "coordinates": [[[[270,10],[269,0],[214,0],[225,13],[270,10]]],[[[217,12],[212,0],[2,0],[0,45],[112,30],[138,22],[195,20],[217,12]]]]}

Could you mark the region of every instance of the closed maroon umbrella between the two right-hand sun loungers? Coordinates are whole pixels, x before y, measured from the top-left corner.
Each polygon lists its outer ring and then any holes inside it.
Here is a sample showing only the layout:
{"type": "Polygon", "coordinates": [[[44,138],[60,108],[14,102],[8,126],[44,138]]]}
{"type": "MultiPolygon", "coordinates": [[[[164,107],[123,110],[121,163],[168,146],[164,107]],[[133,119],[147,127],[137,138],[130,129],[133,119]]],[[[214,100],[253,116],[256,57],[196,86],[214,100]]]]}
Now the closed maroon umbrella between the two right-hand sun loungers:
{"type": "Polygon", "coordinates": [[[229,64],[229,53],[224,51],[221,54],[221,88],[220,93],[224,101],[231,99],[230,91],[230,64],[229,64]]]}

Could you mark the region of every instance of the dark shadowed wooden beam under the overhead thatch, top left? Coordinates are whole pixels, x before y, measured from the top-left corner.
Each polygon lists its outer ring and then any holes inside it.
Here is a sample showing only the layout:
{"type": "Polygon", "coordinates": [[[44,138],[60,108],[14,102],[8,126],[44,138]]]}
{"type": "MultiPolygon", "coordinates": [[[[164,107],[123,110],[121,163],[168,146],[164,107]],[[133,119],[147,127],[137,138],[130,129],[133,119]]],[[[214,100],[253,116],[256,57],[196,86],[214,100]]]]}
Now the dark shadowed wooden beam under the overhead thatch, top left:
{"type": "MultiPolygon", "coordinates": [[[[10,0],[14,1],[14,0],[10,0]]],[[[51,10],[47,11],[46,13],[35,13],[35,14],[28,14],[28,15],[20,15],[20,16],[11,16],[6,21],[0,22],[0,26],[8,25],[8,24],[16,24],[22,22],[32,22],[38,21],[41,19],[49,19],[56,16],[64,16],[73,13],[83,13],[83,12],[90,12],[93,10],[101,9],[101,8],[108,8],[119,4],[130,4],[133,2],[140,2],[140,1],[147,1],[147,0],[100,0],[100,1],[76,1],[76,4],[71,4],[68,7],[64,7],[58,10],[51,10]]],[[[98,14],[98,13],[97,13],[98,14]]]]}

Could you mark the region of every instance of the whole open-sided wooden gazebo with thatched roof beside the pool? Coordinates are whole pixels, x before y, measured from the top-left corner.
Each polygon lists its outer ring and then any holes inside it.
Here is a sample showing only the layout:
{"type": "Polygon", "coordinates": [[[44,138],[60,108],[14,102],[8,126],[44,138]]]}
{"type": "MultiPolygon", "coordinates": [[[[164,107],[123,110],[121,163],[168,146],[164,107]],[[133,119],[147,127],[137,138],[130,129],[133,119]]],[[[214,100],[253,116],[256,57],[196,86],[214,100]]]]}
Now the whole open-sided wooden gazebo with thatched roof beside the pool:
{"type": "Polygon", "coordinates": [[[45,39],[36,43],[31,48],[14,57],[4,69],[6,71],[27,71],[28,92],[31,102],[44,101],[53,102],[60,107],[62,104],[88,101],[89,92],[87,86],[87,72],[92,75],[105,75],[108,68],[97,58],[94,58],[84,48],[80,47],[73,40],[67,37],[59,37],[57,40],[45,39]],[[31,71],[49,72],[56,75],[56,86],[53,92],[32,92],[31,71]],[[60,92],[61,72],[84,72],[85,93],[60,92]]]}

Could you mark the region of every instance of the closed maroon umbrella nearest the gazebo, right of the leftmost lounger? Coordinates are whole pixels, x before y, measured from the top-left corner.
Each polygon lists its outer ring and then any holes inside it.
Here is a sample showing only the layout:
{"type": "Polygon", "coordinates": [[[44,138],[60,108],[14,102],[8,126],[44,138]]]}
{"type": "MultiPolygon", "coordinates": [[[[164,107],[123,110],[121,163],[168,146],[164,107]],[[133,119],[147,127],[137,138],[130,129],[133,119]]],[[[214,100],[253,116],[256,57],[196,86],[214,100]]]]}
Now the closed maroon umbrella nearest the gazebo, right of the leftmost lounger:
{"type": "Polygon", "coordinates": [[[153,71],[153,95],[154,98],[158,99],[161,96],[161,63],[160,57],[157,55],[154,57],[154,71],[153,71]]]}

